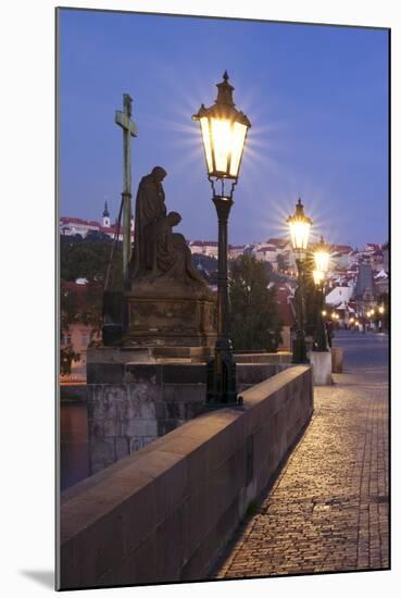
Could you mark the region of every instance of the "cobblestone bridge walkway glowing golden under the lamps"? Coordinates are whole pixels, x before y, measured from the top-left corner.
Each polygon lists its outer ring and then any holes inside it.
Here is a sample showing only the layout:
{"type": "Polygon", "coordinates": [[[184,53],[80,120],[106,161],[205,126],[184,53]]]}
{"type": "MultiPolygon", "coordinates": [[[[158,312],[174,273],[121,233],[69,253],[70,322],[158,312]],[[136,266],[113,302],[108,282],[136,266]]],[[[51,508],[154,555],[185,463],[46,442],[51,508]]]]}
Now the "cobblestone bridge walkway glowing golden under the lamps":
{"type": "Polygon", "coordinates": [[[387,338],[349,334],[337,344],[361,359],[315,388],[305,434],[214,577],[389,568],[387,338]],[[375,350],[377,366],[363,359],[375,350]]]}

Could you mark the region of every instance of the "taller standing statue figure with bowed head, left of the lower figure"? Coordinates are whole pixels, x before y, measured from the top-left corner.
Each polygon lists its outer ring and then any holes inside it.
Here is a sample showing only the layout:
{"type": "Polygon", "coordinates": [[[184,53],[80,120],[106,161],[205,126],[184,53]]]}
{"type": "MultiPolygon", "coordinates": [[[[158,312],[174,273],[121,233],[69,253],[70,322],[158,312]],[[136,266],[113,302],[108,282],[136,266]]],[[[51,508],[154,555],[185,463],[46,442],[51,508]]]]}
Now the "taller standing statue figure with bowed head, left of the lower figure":
{"type": "Polygon", "coordinates": [[[135,205],[133,278],[140,276],[146,270],[146,227],[166,215],[162,186],[162,180],[166,175],[164,169],[154,166],[152,172],[143,176],[139,183],[135,205]]]}

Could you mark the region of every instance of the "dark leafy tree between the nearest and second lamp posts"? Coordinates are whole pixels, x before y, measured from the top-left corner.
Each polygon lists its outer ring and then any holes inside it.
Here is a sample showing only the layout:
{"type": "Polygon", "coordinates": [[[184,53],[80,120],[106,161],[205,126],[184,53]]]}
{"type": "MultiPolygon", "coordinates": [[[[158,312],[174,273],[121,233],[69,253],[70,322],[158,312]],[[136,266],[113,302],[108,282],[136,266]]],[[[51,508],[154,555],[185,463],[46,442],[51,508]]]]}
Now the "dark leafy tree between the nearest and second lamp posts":
{"type": "Polygon", "coordinates": [[[265,264],[253,256],[231,262],[230,333],[235,351],[277,350],[281,341],[276,292],[268,289],[265,264]]]}

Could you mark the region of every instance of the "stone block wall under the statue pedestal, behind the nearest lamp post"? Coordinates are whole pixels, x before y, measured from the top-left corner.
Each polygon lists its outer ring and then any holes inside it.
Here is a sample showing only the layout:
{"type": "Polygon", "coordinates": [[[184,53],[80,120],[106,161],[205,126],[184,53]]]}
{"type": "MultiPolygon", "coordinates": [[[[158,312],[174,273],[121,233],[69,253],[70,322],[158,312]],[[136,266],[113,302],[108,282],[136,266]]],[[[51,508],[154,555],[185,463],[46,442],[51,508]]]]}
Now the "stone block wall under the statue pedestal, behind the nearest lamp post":
{"type": "MultiPolygon", "coordinates": [[[[239,390],[288,365],[240,363],[239,390]]],[[[203,363],[88,364],[89,473],[136,452],[205,410],[203,363]]]]}

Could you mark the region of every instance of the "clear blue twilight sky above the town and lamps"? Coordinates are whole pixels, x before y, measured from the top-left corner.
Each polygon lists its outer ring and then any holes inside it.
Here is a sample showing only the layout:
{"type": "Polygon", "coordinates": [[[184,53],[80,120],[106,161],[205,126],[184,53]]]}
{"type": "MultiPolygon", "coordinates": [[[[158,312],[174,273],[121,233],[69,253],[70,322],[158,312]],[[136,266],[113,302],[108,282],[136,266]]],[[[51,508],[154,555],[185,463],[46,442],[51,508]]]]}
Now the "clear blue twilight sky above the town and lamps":
{"type": "Polygon", "coordinates": [[[384,29],[77,11],[59,13],[60,214],[118,211],[123,92],[133,97],[133,196],[163,166],[168,210],[216,239],[199,124],[225,70],[252,123],[229,242],[286,236],[300,196],[314,236],[388,238],[388,34],[384,29]]]}

